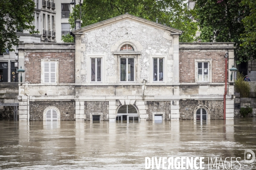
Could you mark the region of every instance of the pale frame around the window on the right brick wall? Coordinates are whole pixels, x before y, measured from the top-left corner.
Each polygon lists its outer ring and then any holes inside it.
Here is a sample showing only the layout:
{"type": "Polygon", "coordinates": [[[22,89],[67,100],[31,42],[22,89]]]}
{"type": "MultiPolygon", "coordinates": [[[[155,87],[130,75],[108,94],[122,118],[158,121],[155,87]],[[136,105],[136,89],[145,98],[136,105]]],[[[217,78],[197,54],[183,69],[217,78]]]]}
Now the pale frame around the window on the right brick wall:
{"type": "Polygon", "coordinates": [[[195,59],[195,82],[198,82],[198,83],[212,82],[212,59],[195,59]],[[198,81],[198,62],[208,62],[208,80],[198,81]]]}

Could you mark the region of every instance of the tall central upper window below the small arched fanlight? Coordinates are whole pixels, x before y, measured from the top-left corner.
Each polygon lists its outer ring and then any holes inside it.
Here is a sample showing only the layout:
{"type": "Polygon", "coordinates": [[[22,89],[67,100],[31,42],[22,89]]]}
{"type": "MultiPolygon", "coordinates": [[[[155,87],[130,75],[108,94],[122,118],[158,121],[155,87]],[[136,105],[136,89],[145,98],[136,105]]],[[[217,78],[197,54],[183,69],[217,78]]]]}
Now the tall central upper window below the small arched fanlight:
{"type": "Polygon", "coordinates": [[[134,58],[120,58],[120,81],[134,82],[134,58]]]}

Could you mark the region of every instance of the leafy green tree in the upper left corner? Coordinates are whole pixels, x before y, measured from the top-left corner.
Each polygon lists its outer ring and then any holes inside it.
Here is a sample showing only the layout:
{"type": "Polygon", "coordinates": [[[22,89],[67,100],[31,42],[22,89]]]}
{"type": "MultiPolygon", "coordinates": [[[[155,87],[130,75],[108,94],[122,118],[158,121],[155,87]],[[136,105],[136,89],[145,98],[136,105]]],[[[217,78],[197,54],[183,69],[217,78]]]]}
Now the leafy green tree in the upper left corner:
{"type": "Polygon", "coordinates": [[[19,37],[16,35],[16,28],[34,31],[32,25],[34,20],[35,3],[33,0],[1,0],[0,1],[0,52],[9,49],[14,51],[12,45],[17,45],[19,37]]]}

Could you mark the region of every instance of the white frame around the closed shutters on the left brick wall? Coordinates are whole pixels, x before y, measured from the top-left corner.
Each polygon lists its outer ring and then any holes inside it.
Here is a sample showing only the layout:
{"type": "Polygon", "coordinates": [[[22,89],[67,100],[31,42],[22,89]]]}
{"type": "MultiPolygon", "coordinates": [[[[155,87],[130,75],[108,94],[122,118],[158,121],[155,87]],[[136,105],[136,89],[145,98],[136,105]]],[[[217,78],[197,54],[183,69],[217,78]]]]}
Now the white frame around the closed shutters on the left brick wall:
{"type": "Polygon", "coordinates": [[[47,83],[47,84],[55,84],[58,83],[58,59],[41,59],[41,83],[47,83]],[[51,77],[49,74],[49,82],[45,82],[44,80],[44,64],[45,62],[49,62],[49,73],[50,72],[50,63],[55,62],[55,82],[51,82],[51,77]]]}

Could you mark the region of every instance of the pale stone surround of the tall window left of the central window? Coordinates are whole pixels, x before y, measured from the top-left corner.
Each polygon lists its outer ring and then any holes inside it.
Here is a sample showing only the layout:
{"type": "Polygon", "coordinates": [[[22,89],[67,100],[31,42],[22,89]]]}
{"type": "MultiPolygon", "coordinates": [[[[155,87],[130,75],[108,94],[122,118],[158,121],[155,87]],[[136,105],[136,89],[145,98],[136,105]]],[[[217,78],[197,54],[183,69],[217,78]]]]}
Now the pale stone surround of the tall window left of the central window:
{"type": "MultiPolygon", "coordinates": [[[[87,74],[87,81],[88,83],[105,83],[105,54],[88,54],[87,59],[85,59],[85,61],[87,61],[87,73],[84,72],[81,74],[87,74]],[[91,81],[92,75],[91,75],[91,58],[101,58],[101,64],[102,64],[102,72],[101,72],[101,81],[97,82],[97,81],[91,81]]],[[[81,70],[82,71],[82,70],[81,70]]],[[[86,69],[84,70],[86,71],[86,69]]]]}

